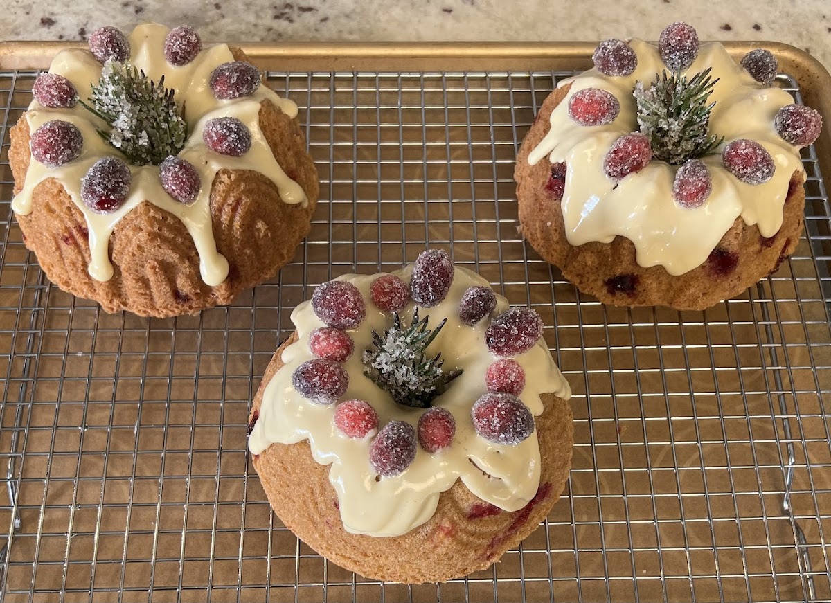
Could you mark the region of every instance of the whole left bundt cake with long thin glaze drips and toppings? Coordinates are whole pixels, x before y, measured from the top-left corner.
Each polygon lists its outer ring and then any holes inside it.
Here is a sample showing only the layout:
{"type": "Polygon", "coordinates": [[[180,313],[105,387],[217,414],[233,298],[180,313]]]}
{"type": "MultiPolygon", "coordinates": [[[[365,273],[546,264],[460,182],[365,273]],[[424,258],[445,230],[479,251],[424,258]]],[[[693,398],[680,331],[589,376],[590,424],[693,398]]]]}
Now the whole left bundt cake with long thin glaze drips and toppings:
{"type": "Polygon", "coordinates": [[[140,316],[194,314],[273,277],[310,229],[297,105],[190,27],[101,27],[37,76],[12,128],[12,208],[58,287],[140,316]]]}

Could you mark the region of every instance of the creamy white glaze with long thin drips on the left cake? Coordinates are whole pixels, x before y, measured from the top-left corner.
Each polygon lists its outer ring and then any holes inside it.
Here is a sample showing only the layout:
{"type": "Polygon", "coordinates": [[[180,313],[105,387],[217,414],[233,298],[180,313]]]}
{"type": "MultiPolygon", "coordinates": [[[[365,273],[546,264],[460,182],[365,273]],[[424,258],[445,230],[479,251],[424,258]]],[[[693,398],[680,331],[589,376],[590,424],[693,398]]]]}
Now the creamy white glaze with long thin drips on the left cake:
{"type": "MultiPolygon", "coordinates": [[[[288,178],[274,159],[259,127],[259,109],[263,100],[270,100],[289,117],[297,115],[297,105],[282,99],[267,86],[259,86],[252,96],[234,100],[218,100],[209,88],[209,77],[216,66],[234,61],[234,56],[225,44],[205,47],[188,65],[175,67],[165,60],[165,37],[170,30],[155,23],[146,23],[135,28],[130,34],[130,61],[153,81],[165,77],[165,87],[175,90],[175,99],[183,108],[184,119],[189,125],[188,140],[179,157],[193,164],[199,173],[202,188],[194,203],[179,203],[162,188],[159,180],[159,166],[130,165],[132,183],[130,194],[124,204],[112,213],[96,213],[81,200],[81,179],[92,164],[101,157],[110,155],[124,159],[124,155],[108,145],[96,129],[106,124],[80,104],[71,109],[47,109],[32,100],[26,114],[29,130],[34,132],[49,120],[66,120],[76,125],[84,137],[81,156],[59,168],[49,168],[32,158],[26,174],[26,181],[19,194],[12,201],[15,213],[27,215],[32,211],[32,193],[43,180],[55,178],[71,196],[76,207],[86,218],[89,230],[91,262],[89,273],[97,281],[109,281],[113,275],[110,262],[109,242],[113,228],[121,218],[143,201],[173,213],[187,228],[197,252],[199,272],[206,285],[214,287],[228,277],[228,261],[216,249],[214,230],[210,215],[210,191],[214,176],[220,169],[250,169],[265,175],[278,188],[285,203],[306,204],[306,194],[299,184],[288,178]],[[233,115],[248,127],[252,144],[242,157],[229,157],[209,150],[202,141],[202,130],[207,120],[214,117],[233,115]]],[[[76,87],[81,100],[91,96],[92,85],[101,76],[101,63],[89,51],[61,51],[52,61],[49,71],[65,76],[76,87]]],[[[127,162],[129,164],[129,162],[127,162]]]]}

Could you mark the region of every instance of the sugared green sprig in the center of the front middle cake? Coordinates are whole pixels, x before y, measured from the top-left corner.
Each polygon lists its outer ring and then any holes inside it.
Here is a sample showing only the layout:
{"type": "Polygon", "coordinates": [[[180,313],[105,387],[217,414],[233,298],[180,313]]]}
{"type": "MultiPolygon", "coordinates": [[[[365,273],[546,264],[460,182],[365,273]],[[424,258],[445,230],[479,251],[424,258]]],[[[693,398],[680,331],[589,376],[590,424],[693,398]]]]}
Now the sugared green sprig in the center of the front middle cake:
{"type": "Polygon", "coordinates": [[[427,354],[427,347],[447,322],[445,318],[430,330],[427,319],[419,319],[416,308],[410,326],[405,326],[395,312],[392,326],[382,336],[372,331],[372,347],[363,353],[364,375],[398,404],[428,408],[446,385],[462,374],[461,370],[442,370],[440,353],[427,354]]]}

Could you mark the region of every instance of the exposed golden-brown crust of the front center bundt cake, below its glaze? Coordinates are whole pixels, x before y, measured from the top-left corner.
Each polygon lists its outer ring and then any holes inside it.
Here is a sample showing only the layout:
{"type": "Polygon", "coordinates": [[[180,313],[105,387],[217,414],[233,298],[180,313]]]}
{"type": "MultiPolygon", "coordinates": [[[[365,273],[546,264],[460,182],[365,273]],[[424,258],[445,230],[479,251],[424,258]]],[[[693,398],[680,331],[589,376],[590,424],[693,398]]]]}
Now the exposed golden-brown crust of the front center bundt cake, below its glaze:
{"type": "MultiPolygon", "coordinates": [[[[253,426],[266,385],[283,361],[283,349],[297,341],[294,333],[273,355],[253,400],[253,426]]],[[[397,537],[350,534],[343,528],[328,465],[312,458],[307,441],[272,444],[253,455],[268,502],[286,527],[337,565],[361,576],[406,584],[448,581],[484,570],[516,547],[548,515],[563,492],[571,466],[573,426],[568,403],[542,396],[536,417],[541,463],[537,496],[524,509],[505,512],[484,503],[457,481],[441,493],[435,515],[397,537]]]]}

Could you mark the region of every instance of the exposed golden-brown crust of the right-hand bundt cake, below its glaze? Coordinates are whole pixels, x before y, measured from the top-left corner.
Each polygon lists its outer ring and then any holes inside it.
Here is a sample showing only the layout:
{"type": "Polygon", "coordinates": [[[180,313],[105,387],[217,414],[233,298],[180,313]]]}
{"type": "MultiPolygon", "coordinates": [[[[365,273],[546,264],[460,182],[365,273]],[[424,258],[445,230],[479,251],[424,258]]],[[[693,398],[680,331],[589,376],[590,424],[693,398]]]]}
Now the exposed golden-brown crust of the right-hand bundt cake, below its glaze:
{"type": "Polygon", "coordinates": [[[764,238],[759,228],[736,218],[707,261],[677,277],[661,266],[639,266],[635,246],[627,238],[573,247],[566,239],[559,200],[553,199],[545,189],[551,164],[547,159],[536,165],[528,163],[529,154],[551,127],[551,112],[568,94],[569,87],[558,88],[543,102],[517,155],[514,179],[523,236],[581,292],[614,306],[703,310],[740,295],[747,287],[775,272],[779,262],[794,252],[802,232],[805,207],[799,172],[791,176],[778,233],[764,238]]]}

